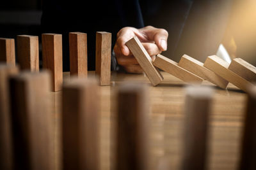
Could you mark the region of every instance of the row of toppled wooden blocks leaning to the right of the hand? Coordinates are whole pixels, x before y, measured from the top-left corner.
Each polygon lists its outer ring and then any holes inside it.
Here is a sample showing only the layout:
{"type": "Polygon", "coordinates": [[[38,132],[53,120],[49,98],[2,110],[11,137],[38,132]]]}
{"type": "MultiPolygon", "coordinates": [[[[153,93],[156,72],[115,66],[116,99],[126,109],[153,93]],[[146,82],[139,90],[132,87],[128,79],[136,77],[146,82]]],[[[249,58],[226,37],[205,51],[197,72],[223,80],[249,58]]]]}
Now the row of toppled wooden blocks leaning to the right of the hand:
{"type": "Polygon", "coordinates": [[[228,64],[220,57],[212,55],[207,57],[205,63],[202,63],[188,55],[183,55],[177,63],[159,54],[153,62],[137,37],[127,41],[126,45],[154,86],[163,81],[163,76],[156,67],[180,80],[189,83],[201,83],[203,80],[207,80],[222,89],[226,89],[230,82],[247,92],[247,87],[256,82],[256,67],[240,58],[233,59],[228,64]]]}

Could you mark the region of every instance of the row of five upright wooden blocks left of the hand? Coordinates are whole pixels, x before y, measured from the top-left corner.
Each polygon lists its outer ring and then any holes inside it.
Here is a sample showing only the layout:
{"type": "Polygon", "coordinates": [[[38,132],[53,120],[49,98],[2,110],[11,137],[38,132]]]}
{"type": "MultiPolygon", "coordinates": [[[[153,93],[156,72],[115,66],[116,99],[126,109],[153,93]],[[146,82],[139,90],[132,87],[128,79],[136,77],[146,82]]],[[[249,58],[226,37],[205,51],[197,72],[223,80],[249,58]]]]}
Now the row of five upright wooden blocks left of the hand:
{"type": "MultiPolygon", "coordinates": [[[[70,74],[87,76],[87,34],[69,33],[70,74]]],[[[0,38],[0,62],[15,64],[15,39],[0,38]]],[[[63,82],[62,35],[42,34],[43,68],[52,73],[52,90],[63,82]]],[[[110,85],[111,33],[97,32],[95,70],[100,85],[110,85]]],[[[38,36],[17,36],[17,63],[22,70],[39,71],[38,36]]]]}

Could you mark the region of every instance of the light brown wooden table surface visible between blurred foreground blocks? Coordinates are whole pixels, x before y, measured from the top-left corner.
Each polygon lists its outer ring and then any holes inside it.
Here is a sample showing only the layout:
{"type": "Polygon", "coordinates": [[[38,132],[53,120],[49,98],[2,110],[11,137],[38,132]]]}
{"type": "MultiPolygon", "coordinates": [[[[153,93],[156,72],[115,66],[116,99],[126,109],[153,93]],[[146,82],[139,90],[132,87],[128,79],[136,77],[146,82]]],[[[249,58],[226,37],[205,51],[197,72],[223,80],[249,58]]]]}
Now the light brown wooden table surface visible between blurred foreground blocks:
{"type": "MultiPolygon", "coordinates": [[[[168,73],[161,72],[164,81],[152,87],[145,74],[111,73],[111,86],[100,87],[100,167],[113,169],[115,150],[116,89],[125,81],[144,82],[150,85],[150,167],[151,169],[180,169],[184,129],[184,83],[168,73]]],[[[94,72],[89,73],[95,75],[94,72]]],[[[68,79],[69,73],[63,78],[68,79]]],[[[243,128],[246,94],[229,84],[228,90],[219,89],[204,81],[202,85],[214,88],[211,120],[209,124],[209,150],[207,169],[237,169],[243,128]]],[[[55,146],[56,169],[61,164],[60,122],[61,91],[52,92],[56,117],[55,146]]]]}

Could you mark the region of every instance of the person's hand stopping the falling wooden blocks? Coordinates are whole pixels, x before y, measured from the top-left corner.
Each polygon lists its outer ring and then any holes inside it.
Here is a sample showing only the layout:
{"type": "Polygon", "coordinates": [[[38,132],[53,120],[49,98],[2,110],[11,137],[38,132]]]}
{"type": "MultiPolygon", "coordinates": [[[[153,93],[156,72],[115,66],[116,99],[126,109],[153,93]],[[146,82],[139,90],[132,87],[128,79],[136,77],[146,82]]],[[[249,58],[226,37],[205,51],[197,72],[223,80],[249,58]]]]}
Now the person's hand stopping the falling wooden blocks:
{"type": "Polygon", "coordinates": [[[125,45],[134,36],[140,39],[152,60],[155,60],[157,54],[167,50],[168,32],[165,29],[147,26],[141,29],[124,27],[117,33],[114,52],[118,64],[124,67],[128,73],[143,73],[138,61],[125,45]]]}

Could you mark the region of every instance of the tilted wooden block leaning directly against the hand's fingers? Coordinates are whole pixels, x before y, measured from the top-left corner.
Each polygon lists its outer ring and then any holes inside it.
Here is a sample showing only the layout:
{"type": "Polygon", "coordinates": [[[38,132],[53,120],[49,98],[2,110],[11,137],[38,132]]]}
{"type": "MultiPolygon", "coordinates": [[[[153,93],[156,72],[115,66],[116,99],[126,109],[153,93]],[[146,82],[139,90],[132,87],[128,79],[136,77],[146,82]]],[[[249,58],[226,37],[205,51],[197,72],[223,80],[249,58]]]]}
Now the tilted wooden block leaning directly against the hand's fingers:
{"type": "Polygon", "coordinates": [[[143,71],[147,74],[152,85],[156,86],[163,81],[163,76],[158,69],[153,66],[151,57],[148,55],[144,46],[136,36],[127,41],[125,45],[128,46],[136,60],[138,60],[138,63],[142,67],[143,71]]]}

